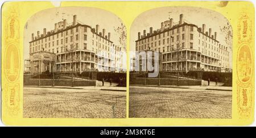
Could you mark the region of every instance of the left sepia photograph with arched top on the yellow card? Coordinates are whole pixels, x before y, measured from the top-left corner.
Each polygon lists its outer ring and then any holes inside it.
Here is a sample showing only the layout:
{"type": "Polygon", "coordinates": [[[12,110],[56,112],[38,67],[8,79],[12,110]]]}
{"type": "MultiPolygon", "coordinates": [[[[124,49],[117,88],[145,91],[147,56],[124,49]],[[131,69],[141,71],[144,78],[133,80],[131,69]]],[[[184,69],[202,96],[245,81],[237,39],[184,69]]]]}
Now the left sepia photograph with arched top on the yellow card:
{"type": "Polygon", "coordinates": [[[126,27],[111,12],[37,12],[23,65],[23,118],[126,118],[126,27]]]}

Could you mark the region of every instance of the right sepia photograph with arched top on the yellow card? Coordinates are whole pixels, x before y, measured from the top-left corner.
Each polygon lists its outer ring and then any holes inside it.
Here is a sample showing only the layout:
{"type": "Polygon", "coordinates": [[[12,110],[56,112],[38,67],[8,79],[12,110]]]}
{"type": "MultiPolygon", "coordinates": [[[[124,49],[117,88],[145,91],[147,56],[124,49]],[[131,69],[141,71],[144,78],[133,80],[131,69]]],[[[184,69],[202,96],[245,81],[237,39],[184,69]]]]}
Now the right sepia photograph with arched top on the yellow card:
{"type": "Polygon", "coordinates": [[[225,16],[161,7],[137,16],[130,34],[129,118],[232,118],[233,32],[225,16]]]}

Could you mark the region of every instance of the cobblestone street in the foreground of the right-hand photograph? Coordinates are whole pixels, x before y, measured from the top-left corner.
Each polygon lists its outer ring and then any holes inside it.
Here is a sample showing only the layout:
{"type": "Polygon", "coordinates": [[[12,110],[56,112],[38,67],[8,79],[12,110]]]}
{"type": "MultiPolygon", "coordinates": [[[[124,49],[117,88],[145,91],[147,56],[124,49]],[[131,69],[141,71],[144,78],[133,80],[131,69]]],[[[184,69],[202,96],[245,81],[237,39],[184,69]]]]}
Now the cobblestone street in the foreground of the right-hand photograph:
{"type": "Polygon", "coordinates": [[[232,91],[130,86],[130,118],[231,118],[232,91]]]}

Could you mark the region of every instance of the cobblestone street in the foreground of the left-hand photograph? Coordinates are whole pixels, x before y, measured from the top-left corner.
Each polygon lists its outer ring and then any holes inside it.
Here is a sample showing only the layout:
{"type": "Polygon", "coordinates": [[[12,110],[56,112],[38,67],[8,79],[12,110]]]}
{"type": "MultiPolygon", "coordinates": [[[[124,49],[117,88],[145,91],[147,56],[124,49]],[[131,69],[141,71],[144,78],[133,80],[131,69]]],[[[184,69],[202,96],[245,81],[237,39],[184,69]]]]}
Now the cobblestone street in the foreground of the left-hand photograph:
{"type": "Polygon", "coordinates": [[[23,118],[125,118],[126,92],[24,87],[23,118]]]}

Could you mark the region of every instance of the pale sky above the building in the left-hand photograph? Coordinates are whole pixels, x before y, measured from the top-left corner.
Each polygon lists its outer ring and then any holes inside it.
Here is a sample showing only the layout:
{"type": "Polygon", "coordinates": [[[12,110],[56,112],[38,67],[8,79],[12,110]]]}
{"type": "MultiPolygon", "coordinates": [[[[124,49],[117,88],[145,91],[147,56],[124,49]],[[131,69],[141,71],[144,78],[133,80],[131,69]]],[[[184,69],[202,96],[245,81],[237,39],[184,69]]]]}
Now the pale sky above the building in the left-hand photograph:
{"type": "Polygon", "coordinates": [[[27,20],[24,29],[24,59],[29,58],[29,41],[31,41],[32,33],[36,36],[37,31],[43,34],[43,28],[46,28],[47,31],[54,30],[54,24],[63,19],[67,19],[67,24],[72,23],[73,15],[77,15],[79,22],[92,28],[96,28],[96,24],[99,24],[100,32],[105,28],[106,34],[108,32],[111,33],[110,40],[114,44],[119,45],[119,35],[114,31],[114,27],[118,27],[122,23],[122,20],[118,16],[106,10],[90,7],[57,7],[39,11],[27,20]]]}

